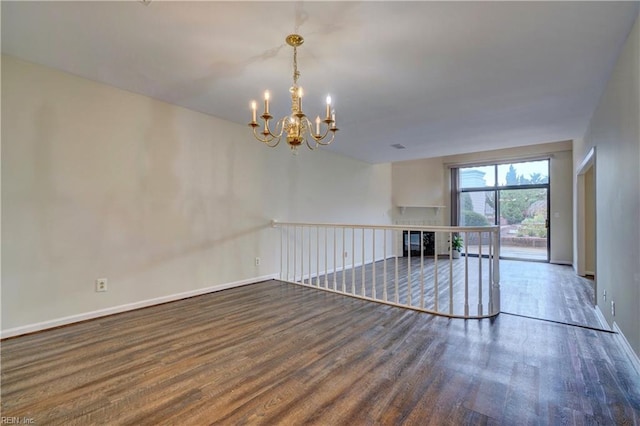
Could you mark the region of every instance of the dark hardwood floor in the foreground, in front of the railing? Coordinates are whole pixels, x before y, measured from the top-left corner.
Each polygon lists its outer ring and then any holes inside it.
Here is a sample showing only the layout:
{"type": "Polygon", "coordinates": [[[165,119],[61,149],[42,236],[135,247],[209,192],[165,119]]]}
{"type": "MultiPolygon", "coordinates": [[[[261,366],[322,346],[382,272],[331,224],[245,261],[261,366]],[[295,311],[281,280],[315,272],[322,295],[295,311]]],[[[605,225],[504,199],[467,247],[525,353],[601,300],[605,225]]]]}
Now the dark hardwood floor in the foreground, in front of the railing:
{"type": "Polygon", "coordinates": [[[513,266],[521,294],[505,294],[503,274],[503,308],[523,308],[491,320],[267,281],[7,339],[2,416],[60,425],[640,423],[640,376],[615,334],[520,316],[581,320],[579,297],[552,309],[540,295],[529,300],[545,267],[553,281],[554,265],[513,266]]]}

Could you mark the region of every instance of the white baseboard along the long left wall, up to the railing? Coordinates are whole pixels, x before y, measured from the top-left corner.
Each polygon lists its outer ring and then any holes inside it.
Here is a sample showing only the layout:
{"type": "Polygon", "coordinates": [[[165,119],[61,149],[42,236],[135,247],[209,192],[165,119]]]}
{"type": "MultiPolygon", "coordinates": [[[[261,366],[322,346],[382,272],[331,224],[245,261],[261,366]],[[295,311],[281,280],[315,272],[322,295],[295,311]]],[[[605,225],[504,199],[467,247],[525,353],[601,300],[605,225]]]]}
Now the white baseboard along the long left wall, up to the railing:
{"type": "Polygon", "coordinates": [[[218,284],[211,287],[199,288],[196,290],[185,291],[183,293],[170,294],[168,296],[156,297],[153,299],[141,300],[139,302],[127,303],[124,305],[113,306],[110,308],[99,309],[97,311],[84,312],[81,314],[70,315],[68,317],[56,318],[53,320],[38,322],[35,324],[24,325],[20,327],[14,327],[0,332],[0,339],[7,337],[20,336],[22,334],[34,333],[36,331],[42,331],[49,328],[60,327],[63,325],[73,324],[80,321],[86,321],[90,319],[100,318],[107,315],[118,314],[121,312],[132,311],[134,309],[146,308],[153,305],[159,305],[161,303],[174,302],[180,299],[187,299],[193,296],[200,296],[206,293],[213,293],[220,290],[226,290],[228,288],[240,287],[247,284],[253,284],[260,281],[266,281],[271,279],[277,279],[276,274],[264,275],[262,277],[254,277],[246,280],[235,281],[231,283],[218,284]]]}

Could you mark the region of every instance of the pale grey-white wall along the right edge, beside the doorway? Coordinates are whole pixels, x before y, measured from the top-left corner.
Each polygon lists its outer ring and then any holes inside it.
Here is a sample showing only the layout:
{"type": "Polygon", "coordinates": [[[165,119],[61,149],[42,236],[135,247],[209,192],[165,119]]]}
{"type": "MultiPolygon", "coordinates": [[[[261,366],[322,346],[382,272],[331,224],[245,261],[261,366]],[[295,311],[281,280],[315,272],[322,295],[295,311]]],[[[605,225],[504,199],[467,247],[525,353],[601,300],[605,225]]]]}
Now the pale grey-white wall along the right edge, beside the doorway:
{"type": "Polygon", "coordinates": [[[640,23],[618,57],[574,164],[595,147],[598,303],[640,354],[640,23]],[[607,301],[601,299],[607,291],[607,301]],[[616,304],[615,316],[610,302],[616,304]]]}

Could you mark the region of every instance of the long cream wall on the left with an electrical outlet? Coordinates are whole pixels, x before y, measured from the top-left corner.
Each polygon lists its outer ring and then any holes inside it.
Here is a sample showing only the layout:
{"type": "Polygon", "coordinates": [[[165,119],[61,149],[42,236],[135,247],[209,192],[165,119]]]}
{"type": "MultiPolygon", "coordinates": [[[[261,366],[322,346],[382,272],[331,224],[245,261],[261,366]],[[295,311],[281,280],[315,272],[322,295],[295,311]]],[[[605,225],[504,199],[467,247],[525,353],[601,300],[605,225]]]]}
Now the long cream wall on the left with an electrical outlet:
{"type": "Polygon", "coordinates": [[[246,126],[2,57],[5,336],[269,277],[271,219],[390,211],[388,164],[292,156],[246,126]]]}

